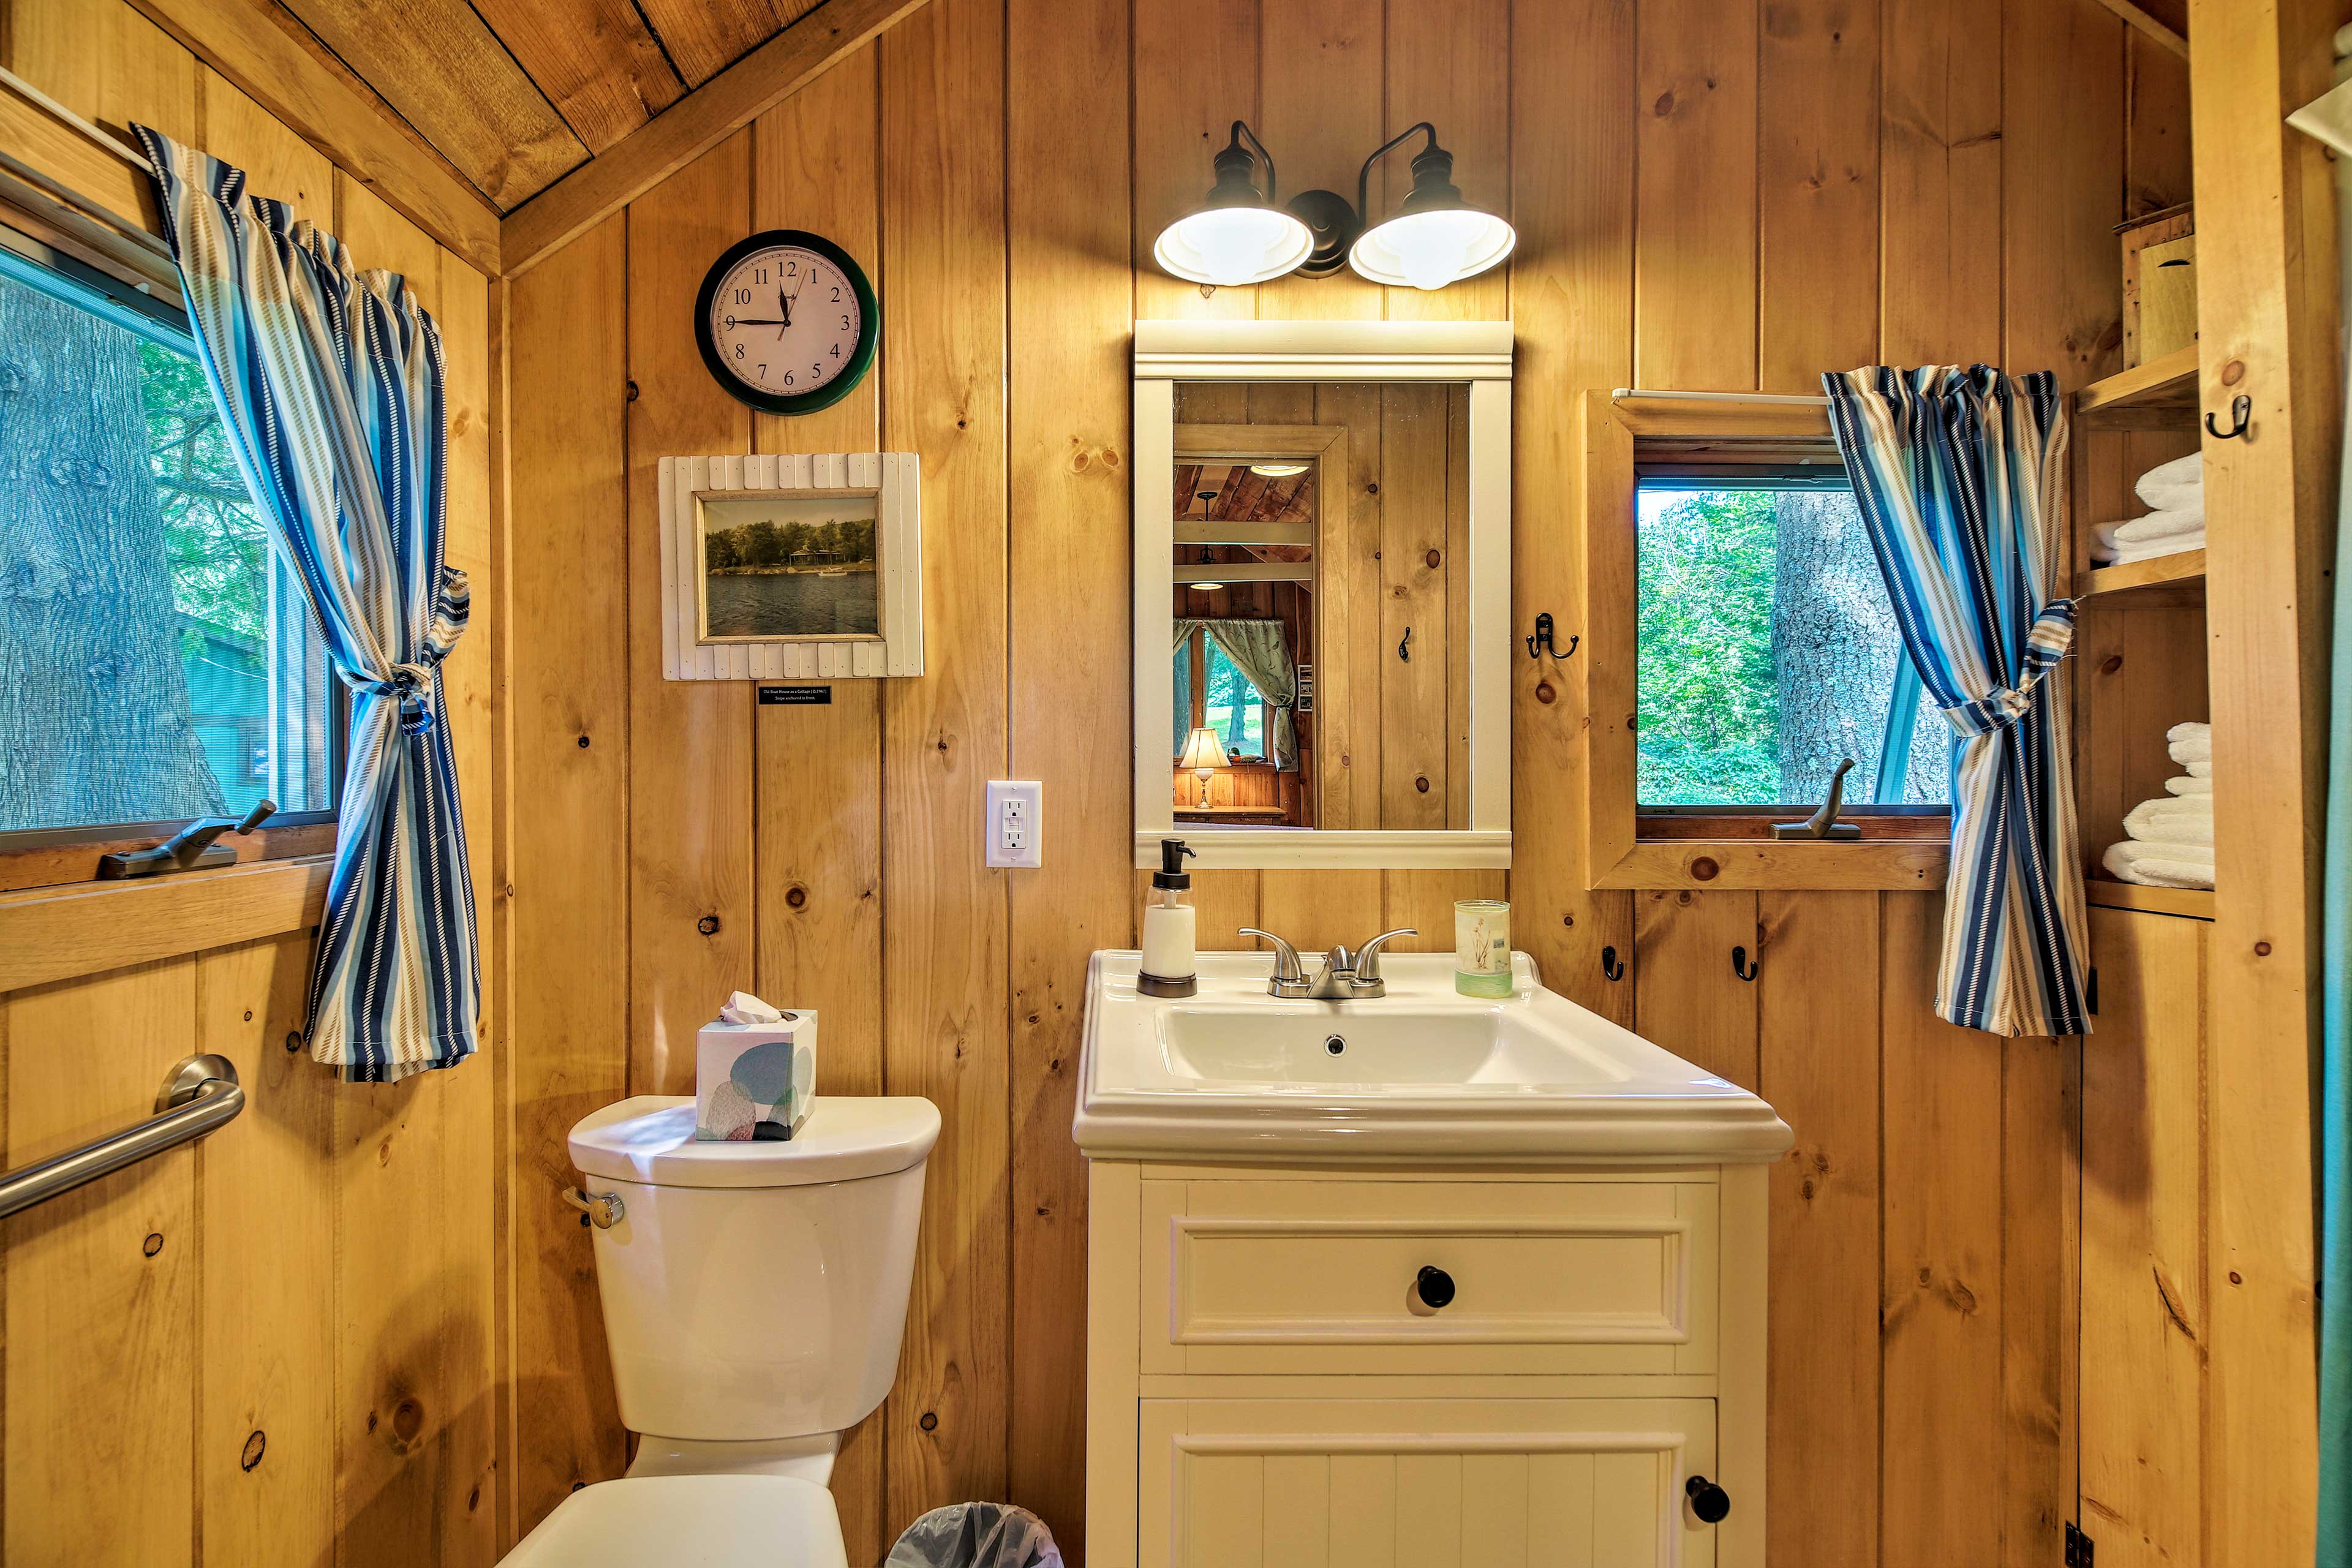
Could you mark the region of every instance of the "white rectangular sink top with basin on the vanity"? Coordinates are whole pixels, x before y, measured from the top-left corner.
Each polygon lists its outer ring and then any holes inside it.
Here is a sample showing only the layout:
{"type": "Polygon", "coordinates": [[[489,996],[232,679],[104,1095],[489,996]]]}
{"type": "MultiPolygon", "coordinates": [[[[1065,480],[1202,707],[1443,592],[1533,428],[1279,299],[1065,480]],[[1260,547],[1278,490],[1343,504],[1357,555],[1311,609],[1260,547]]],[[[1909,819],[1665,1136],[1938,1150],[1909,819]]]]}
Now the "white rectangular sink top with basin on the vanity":
{"type": "MultiPolygon", "coordinates": [[[[1454,992],[1454,954],[1383,954],[1388,994],[1265,994],[1272,957],[1200,954],[1200,994],[1145,997],[1136,952],[1096,952],[1075,1135],[1096,1159],[1258,1154],[1472,1164],[1762,1161],[1771,1105],[1545,990],[1454,992]]],[[[1310,959],[1312,964],[1312,959],[1310,959]]]]}

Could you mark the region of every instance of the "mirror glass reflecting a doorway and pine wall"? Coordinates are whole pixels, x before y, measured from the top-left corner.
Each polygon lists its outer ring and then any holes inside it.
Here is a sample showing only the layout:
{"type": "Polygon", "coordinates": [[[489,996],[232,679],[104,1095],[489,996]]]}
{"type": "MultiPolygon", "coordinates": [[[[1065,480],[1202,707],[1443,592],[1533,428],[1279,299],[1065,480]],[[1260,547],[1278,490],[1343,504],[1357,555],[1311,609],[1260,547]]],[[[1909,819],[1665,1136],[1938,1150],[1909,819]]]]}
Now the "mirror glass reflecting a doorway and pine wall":
{"type": "Polygon", "coordinates": [[[1171,759],[1192,726],[1244,715],[1207,783],[1209,806],[1230,811],[1204,809],[1195,771],[1174,769],[1178,820],[1470,825],[1468,414],[1454,383],[1178,383],[1171,630],[1202,628],[1171,637],[1171,759]],[[1261,703],[1258,731],[1247,701],[1223,701],[1218,621],[1275,621],[1287,637],[1272,684],[1289,701],[1261,703]],[[1277,719],[1289,769],[1261,750],[1277,719]]]}

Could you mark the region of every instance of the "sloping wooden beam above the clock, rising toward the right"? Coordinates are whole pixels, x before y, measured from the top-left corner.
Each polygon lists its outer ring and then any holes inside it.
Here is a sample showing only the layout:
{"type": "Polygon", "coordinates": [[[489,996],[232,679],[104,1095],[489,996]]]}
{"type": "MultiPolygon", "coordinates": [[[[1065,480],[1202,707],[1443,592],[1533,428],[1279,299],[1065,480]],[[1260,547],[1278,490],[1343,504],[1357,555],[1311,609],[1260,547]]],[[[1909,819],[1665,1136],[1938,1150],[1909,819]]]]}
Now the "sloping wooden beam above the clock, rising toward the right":
{"type": "Polygon", "coordinates": [[[924,0],[826,0],[506,214],[499,226],[506,275],[517,277],[546,261],[922,5],[924,0]]]}

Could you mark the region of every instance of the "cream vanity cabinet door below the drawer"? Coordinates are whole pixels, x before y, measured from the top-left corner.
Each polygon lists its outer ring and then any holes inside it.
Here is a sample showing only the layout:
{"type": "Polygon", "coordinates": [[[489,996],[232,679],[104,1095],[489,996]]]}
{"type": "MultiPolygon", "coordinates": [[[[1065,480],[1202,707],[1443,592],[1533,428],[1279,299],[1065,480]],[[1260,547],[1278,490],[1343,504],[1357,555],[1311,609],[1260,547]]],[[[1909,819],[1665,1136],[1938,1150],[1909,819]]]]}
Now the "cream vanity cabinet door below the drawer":
{"type": "Polygon", "coordinates": [[[1138,1568],[1715,1568],[1712,1399],[1145,1399],[1136,1462],[1138,1568]]]}

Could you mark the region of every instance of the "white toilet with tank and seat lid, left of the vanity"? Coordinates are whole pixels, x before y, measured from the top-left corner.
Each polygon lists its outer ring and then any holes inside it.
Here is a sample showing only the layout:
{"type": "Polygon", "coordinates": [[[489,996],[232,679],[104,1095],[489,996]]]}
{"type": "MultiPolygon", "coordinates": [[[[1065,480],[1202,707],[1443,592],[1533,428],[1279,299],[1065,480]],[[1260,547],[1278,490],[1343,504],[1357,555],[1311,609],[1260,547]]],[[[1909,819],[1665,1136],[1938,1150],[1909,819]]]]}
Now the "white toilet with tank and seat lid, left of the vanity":
{"type": "Polygon", "coordinates": [[[934,1143],[922,1098],[821,1098],[788,1143],[696,1143],[675,1095],[574,1126],[637,1458],[503,1563],[847,1568],[826,1483],[898,1371],[934,1143]]]}

